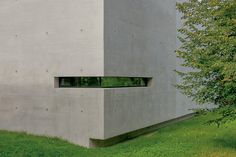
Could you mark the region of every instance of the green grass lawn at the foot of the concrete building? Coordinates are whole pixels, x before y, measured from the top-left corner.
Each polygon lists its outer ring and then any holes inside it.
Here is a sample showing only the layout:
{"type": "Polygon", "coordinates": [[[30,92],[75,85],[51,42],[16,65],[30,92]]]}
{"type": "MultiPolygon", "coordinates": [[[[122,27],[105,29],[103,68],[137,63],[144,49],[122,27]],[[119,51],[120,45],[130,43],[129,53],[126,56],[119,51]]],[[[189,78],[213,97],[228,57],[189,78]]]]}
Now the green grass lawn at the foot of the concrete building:
{"type": "Polygon", "coordinates": [[[236,157],[236,122],[204,125],[212,115],[172,124],[108,148],[86,149],[65,141],[0,131],[0,157],[236,157]]]}

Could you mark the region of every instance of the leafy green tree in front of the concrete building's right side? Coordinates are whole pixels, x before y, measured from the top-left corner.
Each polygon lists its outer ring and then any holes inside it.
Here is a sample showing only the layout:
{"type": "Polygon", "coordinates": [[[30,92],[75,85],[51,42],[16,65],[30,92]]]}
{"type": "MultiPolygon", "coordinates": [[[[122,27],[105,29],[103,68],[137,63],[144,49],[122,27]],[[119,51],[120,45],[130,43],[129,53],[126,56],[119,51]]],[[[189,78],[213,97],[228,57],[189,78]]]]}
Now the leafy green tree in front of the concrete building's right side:
{"type": "Polygon", "coordinates": [[[183,26],[176,51],[182,66],[177,85],[199,104],[213,103],[218,125],[236,119],[236,0],[177,3],[183,26]]]}

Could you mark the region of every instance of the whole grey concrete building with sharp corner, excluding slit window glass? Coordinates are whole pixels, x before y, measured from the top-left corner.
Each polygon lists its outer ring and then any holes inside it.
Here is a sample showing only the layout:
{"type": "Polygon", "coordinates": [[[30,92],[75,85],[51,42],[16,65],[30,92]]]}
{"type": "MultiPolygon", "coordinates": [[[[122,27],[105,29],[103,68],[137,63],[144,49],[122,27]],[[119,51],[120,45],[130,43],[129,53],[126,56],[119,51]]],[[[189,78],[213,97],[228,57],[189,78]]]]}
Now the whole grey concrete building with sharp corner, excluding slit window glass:
{"type": "Polygon", "coordinates": [[[93,147],[189,114],[173,84],[175,0],[1,0],[0,129],[93,147]],[[59,88],[63,77],[146,87],[59,88]]]}

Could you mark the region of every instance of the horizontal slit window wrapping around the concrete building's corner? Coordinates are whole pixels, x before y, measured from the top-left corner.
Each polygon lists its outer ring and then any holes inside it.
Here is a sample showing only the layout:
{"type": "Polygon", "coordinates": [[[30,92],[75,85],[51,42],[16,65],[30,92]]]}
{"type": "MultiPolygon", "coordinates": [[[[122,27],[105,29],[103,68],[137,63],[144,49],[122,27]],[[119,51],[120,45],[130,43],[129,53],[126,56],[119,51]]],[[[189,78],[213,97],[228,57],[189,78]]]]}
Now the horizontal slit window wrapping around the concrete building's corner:
{"type": "Polygon", "coordinates": [[[59,88],[147,87],[151,78],[141,77],[57,77],[59,88]]]}

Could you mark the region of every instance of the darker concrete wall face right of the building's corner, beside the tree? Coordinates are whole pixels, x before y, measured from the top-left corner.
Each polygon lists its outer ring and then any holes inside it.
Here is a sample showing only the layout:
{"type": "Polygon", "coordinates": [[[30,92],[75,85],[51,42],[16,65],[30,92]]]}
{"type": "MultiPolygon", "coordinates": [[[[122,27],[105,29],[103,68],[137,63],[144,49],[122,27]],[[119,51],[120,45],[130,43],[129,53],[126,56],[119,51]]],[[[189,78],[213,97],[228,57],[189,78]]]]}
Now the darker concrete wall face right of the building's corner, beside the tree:
{"type": "Polygon", "coordinates": [[[175,4],[175,0],[105,0],[104,74],[153,77],[147,88],[105,90],[105,138],[190,113],[173,86],[175,4]]]}

